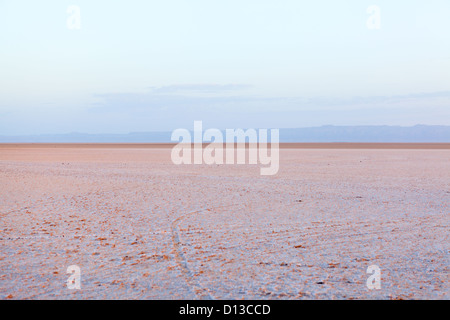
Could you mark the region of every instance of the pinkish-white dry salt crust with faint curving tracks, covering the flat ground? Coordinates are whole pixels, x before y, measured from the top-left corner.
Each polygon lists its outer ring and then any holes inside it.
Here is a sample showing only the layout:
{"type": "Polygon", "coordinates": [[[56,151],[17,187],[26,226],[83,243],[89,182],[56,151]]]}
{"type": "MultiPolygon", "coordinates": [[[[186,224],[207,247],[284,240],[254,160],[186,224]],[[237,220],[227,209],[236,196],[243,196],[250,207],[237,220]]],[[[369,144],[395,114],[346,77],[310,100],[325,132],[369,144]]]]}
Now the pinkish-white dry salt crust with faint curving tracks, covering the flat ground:
{"type": "Polygon", "coordinates": [[[261,176],[169,148],[3,147],[0,298],[448,299],[449,158],[281,149],[261,176]]]}

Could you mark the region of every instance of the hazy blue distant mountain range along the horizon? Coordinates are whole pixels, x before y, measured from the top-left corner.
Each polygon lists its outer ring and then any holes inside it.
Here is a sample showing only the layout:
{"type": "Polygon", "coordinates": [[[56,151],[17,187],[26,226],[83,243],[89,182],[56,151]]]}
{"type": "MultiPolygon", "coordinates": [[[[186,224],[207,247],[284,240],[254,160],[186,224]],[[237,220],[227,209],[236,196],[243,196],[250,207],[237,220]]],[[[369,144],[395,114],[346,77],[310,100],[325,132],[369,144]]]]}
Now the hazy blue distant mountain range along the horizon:
{"type": "MultiPolygon", "coordinates": [[[[0,136],[0,143],[163,143],[172,132],[0,136]]],[[[282,128],[280,142],[450,142],[450,126],[322,126],[282,128]]]]}

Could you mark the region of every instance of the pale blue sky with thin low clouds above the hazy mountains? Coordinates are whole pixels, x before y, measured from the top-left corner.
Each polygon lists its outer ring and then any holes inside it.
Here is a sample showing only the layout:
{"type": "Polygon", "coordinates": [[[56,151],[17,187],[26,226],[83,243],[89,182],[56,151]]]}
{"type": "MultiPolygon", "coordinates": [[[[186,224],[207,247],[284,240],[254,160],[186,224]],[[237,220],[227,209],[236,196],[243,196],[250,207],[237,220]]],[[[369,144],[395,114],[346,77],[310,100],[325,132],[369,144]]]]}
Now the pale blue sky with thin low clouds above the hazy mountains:
{"type": "Polygon", "coordinates": [[[0,135],[450,125],[448,0],[0,0],[0,135]]]}

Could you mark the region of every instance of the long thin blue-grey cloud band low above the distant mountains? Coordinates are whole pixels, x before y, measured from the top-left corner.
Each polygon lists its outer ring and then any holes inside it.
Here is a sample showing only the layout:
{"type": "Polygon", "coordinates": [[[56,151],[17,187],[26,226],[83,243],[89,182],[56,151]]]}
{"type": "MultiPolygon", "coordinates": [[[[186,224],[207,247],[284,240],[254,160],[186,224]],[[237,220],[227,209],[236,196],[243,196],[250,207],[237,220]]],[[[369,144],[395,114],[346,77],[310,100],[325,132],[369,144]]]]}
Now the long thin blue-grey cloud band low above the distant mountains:
{"type": "Polygon", "coordinates": [[[429,92],[409,95],[370,97],[261,97],[246,92],[235,91],[244,85],[172,85],[156,88],[145,93],[104,93],[96,94],[101,102],[91,108],[92,112],[145,113],[167,112],[167,117],[175,113],[191,112],[199,116],[215,111],[218,115],[227,112],[293,112],[293,111],[363,111],[368,109],[388,110],[422,109],[427,112],[432,107],[450,104],[450,92],[429,92]],[[192,94],[209,92],[211,94],[192,94]],[[230,94],[223,94],[230,92],[230,94]]]}

